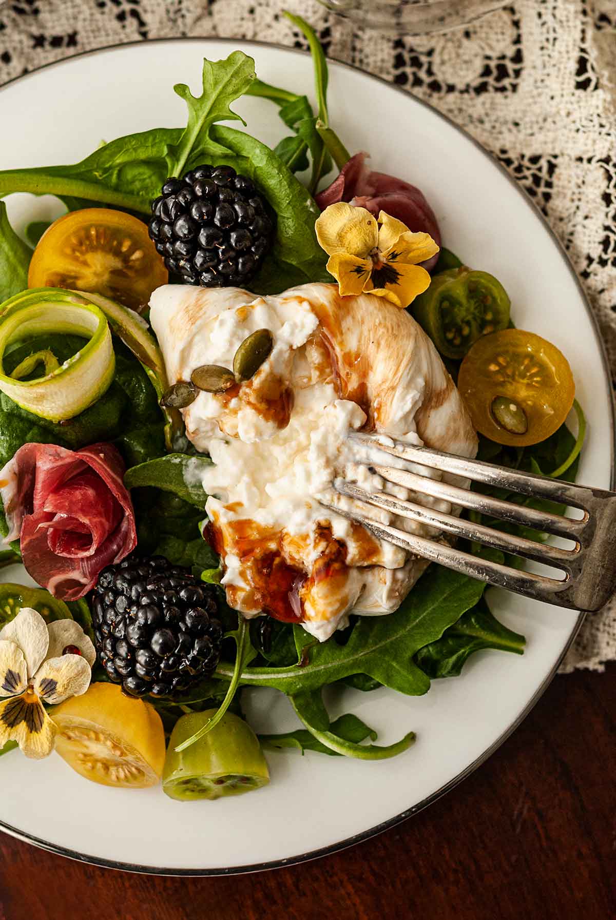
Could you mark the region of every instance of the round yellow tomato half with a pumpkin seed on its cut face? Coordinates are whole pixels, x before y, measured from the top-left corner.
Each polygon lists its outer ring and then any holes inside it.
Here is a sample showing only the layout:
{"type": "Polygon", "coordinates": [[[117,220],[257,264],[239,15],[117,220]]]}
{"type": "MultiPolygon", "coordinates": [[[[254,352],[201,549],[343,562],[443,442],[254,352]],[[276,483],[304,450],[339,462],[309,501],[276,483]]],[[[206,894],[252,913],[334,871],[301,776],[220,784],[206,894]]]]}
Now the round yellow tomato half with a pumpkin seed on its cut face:
{"type": "Polygon", "coordinates": [[[563,352],[522,329],[478,339],[460,365],[458,388],[477,431],[514,447],[549,438],[575,397],[563,352]]]}

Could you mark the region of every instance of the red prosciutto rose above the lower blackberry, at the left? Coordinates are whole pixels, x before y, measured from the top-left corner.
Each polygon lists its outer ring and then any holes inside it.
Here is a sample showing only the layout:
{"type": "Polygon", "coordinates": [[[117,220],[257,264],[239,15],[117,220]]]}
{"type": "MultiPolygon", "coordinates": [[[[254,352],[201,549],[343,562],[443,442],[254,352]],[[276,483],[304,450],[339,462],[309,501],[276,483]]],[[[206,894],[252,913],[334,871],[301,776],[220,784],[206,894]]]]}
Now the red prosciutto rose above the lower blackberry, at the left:
{"type": "Polygon", "coordinates": [[[54,597],[76,601],[99,571],[134,550],[137,535],[122,457],[112,444],[80,451],[27,443],[0,472],[9,532],[24,566],[54,597]]]}

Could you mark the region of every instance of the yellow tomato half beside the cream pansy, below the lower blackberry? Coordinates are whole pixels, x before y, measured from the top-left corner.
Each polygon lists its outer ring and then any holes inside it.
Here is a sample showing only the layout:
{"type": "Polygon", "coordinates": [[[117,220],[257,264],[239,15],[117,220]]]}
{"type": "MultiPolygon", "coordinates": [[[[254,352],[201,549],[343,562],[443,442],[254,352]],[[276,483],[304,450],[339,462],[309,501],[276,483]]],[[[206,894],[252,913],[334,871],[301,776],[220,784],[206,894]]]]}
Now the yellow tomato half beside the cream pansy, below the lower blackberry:
{"type": "Polygon", "coordinates": [[[160,782],[165,732],[149,703],[124,696],[118,684],[90,684],[51,715],[58,727],[55,750],[81,776],[137,789],[160,782]]]}

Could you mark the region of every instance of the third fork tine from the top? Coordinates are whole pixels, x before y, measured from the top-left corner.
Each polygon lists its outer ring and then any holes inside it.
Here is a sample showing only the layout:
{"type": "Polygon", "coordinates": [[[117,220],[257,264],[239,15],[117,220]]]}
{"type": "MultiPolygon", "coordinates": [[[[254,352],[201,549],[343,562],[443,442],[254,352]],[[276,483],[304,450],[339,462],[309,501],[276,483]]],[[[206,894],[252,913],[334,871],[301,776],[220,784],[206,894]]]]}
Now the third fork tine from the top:
{"type": "Polygon", "coordinates": [[[491,527],[485,527],[481,523],[460,521],[453,514],[439,512],[434,508],[426,508],[424,505],[415,504],[413,501],[403,501],[388,495],[386,492],[367,492],[366,489],[361,489],[355,486],[354,483],[341,483],[338,485],[338,490],[344,495],[364,501],[373,507],[382,508],[412,521],[428,524],[438,530],[445,530],[448,534],[463,537],[467,540],[474,540],[484,546],[492,546],[494,549],[501,549],[503,552],[511,553],[515,556],[545,562],[567,572],[571,571],[571,564],[579,558],[579,544],[575,549],[563,549],[550,544],[540,544],[523,536],[513,536],[494,530],[491,527]]]}

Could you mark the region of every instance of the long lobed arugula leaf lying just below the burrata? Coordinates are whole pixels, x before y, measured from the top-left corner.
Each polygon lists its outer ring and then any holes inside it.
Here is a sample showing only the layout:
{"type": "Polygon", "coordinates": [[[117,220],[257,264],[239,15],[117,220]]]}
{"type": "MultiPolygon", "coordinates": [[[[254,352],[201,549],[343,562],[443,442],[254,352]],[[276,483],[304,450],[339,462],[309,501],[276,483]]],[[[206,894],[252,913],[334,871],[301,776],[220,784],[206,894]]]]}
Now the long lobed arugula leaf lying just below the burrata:
{"type": "MultiPolygon", "coordinates": [[[[271,686],[287,696],[296,696],[351,674],[366,673],[400,693],[424,694],[430,681],[414,663],[415,652],[440,638],[460,615],[477,604],[483,588],[480,581],[432,566],[395,613],[361,617],[346,645],[317,644],[308,650],[306,664],[302,656],[301,663],[291,666],[245,668],[240,683],[271,686]]],[[[301,627],[294,628],[302,648],[306,648],[311,637],[301,627]]],[[[232,669],[222,663],[215,673],[230,680],[232,669]]]]}

